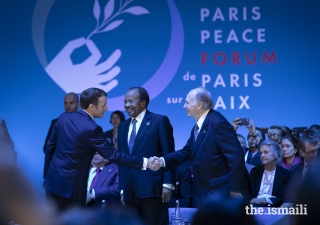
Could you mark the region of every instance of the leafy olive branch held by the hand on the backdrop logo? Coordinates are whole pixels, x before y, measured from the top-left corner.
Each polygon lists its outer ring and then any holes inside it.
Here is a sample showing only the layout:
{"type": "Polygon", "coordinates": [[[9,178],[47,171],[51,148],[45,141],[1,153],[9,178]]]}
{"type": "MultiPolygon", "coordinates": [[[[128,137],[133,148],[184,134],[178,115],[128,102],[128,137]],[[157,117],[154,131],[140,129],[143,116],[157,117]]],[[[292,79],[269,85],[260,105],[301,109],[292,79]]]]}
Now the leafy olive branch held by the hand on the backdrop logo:
{"type": "Polygon", "coordinates": [[[133,2],[133,0],[125,0],[122,4],[122,0],[120,0],[120,7],[118,11],[115,12],[115,0],[109,0],[109,2],[104,7],[104,19],[100,23],[101,7],[99,1],[95,0],[93,5],[93,15],[97,20],[97,25],[96,28],[88,35],[87,39],[90,39],[94,34],[116,29],[124,22],[124,20],[115,19],[123,13],[130,13],[136,16],[149,14],[149,11],[141,6],[127,7],[131,2],[133,2]]]}

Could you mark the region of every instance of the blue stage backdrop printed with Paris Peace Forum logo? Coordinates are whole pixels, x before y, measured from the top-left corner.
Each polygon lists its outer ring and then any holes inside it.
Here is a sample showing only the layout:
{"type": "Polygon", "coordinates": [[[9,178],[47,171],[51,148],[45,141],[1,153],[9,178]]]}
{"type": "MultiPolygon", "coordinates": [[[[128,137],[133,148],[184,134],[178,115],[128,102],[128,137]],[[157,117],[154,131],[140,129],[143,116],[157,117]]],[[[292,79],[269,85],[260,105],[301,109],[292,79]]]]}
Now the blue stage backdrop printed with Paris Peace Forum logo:
{"type": "MultiPolygon", "coordinates": [[[[93,86],[110,112],[144,86],[177,149],[195,123],[185,96],[199,86],[229,121],[319,124],[319,11],[318,0],[1,1],[0,116],[19,165],[40,193],[50,122],[67,92],[93,86]]],[[[110,112],[96,120],[104,130],[110,112]]]]}

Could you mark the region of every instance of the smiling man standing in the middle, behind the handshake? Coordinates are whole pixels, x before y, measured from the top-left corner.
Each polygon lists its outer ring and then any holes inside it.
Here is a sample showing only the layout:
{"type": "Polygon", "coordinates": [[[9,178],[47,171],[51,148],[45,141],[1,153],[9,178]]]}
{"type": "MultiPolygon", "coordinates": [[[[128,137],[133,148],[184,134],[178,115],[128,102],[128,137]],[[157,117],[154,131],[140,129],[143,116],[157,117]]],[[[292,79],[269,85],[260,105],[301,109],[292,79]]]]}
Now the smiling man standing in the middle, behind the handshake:
{"type": "MultiPolygon", "coordinates": [[[[168,117],[147,110],[149,94],[130,88],[124,107],[130,118],[119,125],[118,151],[138,157],[164,156],[174,151],[173,129],[168,117]]],[[[121,199],[146,224],[168,224],[168,202],[174,181],[172,171],[133,170],[119,167],[121,199]]]]}

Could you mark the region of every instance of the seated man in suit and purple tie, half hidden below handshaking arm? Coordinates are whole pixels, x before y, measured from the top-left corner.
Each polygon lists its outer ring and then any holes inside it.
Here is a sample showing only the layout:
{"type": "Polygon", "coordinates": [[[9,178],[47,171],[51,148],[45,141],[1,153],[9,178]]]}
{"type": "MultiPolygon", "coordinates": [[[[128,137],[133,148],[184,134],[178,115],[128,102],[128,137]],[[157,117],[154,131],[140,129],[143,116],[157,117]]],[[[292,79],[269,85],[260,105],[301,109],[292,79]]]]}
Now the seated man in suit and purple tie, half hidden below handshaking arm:
{"type": "Polygon", "coordinates": [[[98,152],[93,156],[88,178],[87,207],[100,211],[102,200],[107,205],[120,204],[118,165],[110,163],[98,152]]]}

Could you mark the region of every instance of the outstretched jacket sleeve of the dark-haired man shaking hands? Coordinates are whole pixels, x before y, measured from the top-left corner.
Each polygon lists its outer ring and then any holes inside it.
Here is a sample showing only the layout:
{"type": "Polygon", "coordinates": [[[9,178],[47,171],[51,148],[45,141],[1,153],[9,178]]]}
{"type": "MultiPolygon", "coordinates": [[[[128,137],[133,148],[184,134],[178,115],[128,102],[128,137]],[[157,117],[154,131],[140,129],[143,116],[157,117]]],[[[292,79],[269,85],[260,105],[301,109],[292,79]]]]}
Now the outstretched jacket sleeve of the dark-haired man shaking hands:
{"type": "Polygon", "coordinates": [[[100,126],[97,126],[93,131],[90,144],[96,152],[99,152],[102,157],[108,159],[110,162],[132,169],[142,169],[143,158],[116,151],[115,148],[106,141],[100,126]]]}

